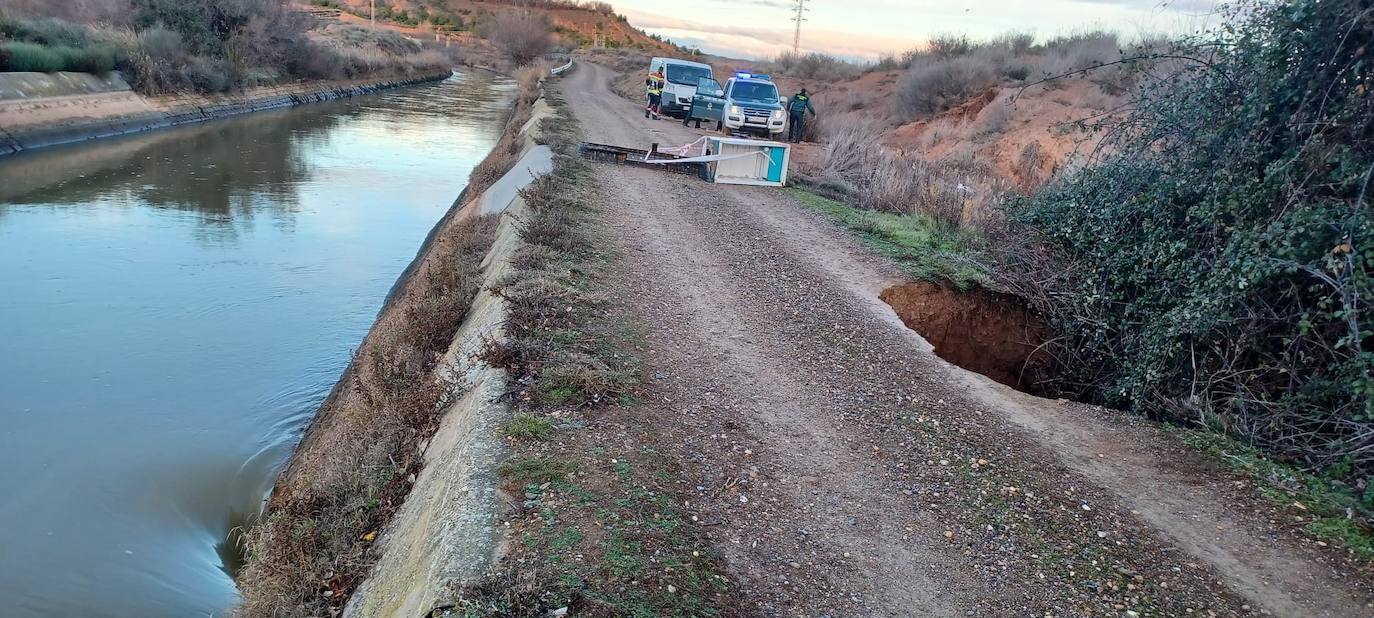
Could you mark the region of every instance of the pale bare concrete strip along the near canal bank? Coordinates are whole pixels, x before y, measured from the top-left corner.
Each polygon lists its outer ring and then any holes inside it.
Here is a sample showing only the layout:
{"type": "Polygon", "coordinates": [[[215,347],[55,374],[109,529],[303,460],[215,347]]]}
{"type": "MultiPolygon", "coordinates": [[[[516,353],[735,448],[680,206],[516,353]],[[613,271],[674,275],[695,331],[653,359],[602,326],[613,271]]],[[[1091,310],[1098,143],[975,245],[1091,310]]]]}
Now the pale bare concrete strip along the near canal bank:
{"type": "Polygon", "coordinates": [[[552,152],[539,144],[539,121],[552,115],[543,99],[519,130],[515,165],[458,217],[499,214],[492,249],[482,260],[482,290],[440,364],[456,385],[458,400],[442,412],[427,441],[425,468],[381,537],[382,558],[345,608],[346,617],[429,615],[445,607],[496,560],[499,516],[504,510],[496,466],[506,456],[510,409],[506,371],[480,360],[484,346],[506,335],[506,302],[491,290],[511,271],[525,214],[519,190],[552,169],[552,152]]]}

